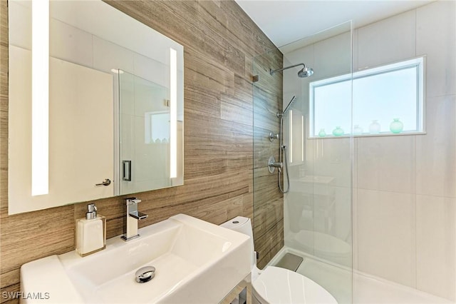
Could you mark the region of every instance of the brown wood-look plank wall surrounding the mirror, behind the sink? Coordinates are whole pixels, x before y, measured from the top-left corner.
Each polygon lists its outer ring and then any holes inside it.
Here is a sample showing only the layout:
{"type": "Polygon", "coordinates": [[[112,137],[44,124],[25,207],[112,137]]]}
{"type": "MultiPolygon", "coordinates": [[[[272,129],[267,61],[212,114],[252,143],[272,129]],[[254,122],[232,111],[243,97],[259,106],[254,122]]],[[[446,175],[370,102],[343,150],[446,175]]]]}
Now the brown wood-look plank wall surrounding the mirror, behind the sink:
{"type": "MultiPolygon", "coordinates": [[[[281,63],[281,53],[234,1],[107,2],[185,49],[185,185],[138,193],[141,211],[149,215],[140,227],[177,213],[216,224],[238,215],[253,217],[252,58],[273,50],[276,63],[281,63]]],[[[19,291],[23,263],[73,250],[75,219],[84,216],[86,203],[8,216],[8,104],[12,101],[5,0],[0,0],[0,21],[0,295],[4,295],[19,291]]],[[[276,77],[265,89],[274,96],[269,101],[274,108],[281,107],[281,88],[281,77],[276,77]]],[[[264,193],[275,193],[273,203],[264,204],[274,218],[261,218],[255,228],[257,235],[276,231],[269,237],[274,241],[259,245],[269,256],[274,252],[269,247],[279,246],[276,238],[283,244],[283,199],[274,192],[275,180],[261,185],[264,193]]],[[[123,198],[94,202],[108,218],[108,238],[121,234],[123,198]]],[[[1,296],[1,302],[17,300],[1,296]]]]}

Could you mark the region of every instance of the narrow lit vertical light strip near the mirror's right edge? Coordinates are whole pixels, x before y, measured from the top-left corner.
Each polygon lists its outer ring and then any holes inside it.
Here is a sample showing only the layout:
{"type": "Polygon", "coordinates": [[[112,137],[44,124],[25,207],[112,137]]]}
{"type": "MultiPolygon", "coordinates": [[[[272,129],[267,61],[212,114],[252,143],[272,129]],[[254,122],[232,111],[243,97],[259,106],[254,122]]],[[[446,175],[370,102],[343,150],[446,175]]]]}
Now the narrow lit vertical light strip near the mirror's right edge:
{"type": "Polygon", "coordinates": [[[177,51],[170,48],[170,178],[177,178],[177,51]]]}

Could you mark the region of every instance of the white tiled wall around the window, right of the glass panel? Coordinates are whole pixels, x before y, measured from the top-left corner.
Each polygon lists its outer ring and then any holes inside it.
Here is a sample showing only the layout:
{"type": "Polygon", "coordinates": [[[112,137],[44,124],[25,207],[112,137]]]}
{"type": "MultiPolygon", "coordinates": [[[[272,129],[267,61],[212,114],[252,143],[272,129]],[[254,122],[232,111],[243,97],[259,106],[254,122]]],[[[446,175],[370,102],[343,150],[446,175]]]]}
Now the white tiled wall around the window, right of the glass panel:
{"type": "MultiPolygon", "coordinates": [[[[426,56],[425,135],[358,138],[354,265],[456,300],[456,2],[355,32],[358,66],[426,56]]],[[[355,66],[355,69],[358,67],[355,66]]]]}

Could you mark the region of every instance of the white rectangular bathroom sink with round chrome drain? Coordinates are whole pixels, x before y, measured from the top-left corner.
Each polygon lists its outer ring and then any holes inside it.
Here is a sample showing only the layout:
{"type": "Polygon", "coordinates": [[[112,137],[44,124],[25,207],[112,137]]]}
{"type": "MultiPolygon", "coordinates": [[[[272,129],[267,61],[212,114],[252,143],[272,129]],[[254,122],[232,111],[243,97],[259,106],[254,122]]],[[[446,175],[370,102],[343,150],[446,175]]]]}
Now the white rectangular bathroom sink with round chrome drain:
{"type": "Polygon", "coordinates": [[[21,291],[48,293],[46,303],[218,303],[250,273],[242,233],[184,214],[138,231],[140,238],[110,238],[85,258],[72,251],[22,265],[21,291]],[[137,283],[145,266],[155,277],[137,283]]]}

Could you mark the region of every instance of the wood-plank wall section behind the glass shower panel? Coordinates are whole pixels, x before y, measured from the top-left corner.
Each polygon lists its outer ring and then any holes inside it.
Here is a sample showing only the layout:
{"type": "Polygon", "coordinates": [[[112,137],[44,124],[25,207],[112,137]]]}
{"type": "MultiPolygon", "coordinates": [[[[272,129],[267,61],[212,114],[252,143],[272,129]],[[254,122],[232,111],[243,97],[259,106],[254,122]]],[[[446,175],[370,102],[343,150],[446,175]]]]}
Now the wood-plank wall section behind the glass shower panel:
{"type": "Polygon", "coordinates": [[[279,141],[269,141],[269,132],[279,133],[276,113],[282,108],[281,73],[271,76],[269,69],[280,68],[282,57],[266,51],[254,57],[252,66],[259,76],[259,81],[253,83],[254,239],[259,253],[257,265],[264,268],[284,246],[284,196],[277,186],[277,170],[271,174],[266,166],[270,156],[279,161],[279,141]]]}

